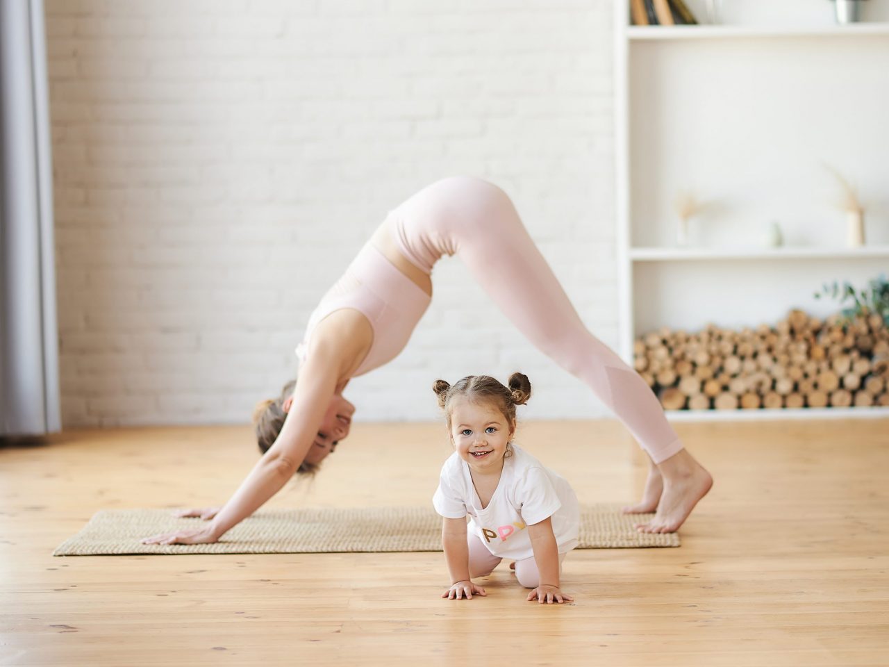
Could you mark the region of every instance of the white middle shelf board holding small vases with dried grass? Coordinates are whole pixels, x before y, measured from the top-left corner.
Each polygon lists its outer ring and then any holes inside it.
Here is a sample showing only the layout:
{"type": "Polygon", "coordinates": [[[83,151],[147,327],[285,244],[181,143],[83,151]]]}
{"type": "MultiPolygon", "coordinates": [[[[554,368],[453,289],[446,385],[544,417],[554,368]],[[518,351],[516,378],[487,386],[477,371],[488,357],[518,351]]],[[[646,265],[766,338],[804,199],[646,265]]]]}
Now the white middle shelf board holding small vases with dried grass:
{"type": "Polygon", "coordinates": [[[844,260],[889,258],[889,245],[865,245],[861,248],[819,248],[786,246],[781,248],[657,248],[629,249],[631,261],[685,260],[844,260]]]}

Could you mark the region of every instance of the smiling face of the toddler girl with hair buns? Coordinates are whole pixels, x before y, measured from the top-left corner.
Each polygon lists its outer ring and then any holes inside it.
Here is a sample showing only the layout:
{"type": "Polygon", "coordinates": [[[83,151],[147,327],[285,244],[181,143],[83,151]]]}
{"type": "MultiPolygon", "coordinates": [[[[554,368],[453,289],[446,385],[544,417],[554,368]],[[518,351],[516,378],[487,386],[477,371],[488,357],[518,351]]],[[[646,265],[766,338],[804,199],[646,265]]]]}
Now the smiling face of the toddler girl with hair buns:
{"type": "Polygon", "coordinates": [[[500,471],[515,427],[489,401],[456,398],[451,404],[451,441],[461,459],[477,472],[500,471]]]}

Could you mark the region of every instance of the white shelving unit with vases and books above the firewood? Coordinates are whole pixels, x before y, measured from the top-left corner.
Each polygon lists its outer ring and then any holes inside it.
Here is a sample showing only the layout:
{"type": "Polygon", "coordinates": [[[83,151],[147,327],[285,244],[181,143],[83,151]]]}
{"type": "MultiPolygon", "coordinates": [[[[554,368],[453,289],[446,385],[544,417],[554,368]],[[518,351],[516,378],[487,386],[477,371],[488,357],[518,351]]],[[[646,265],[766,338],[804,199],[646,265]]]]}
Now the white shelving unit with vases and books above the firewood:
{"type": "MultiPolygon", "coordinates": [[[[725,0],[706,25],[630,26],[615,3],[617,254],[621,356],[668,325],[824,316],[823,283],[889,273],[889,0],[840,26],[829,0],[725,0]],[[845,247],[841,189],[859,189],[868,245],[845,247]],[[688,245],[673,202],[699,199],[688,245]],[[765,243],[773,221],[785,245],[765,243]]],[[[889,408],[670,413],[677,419],[887,415],[889,408]]]]}

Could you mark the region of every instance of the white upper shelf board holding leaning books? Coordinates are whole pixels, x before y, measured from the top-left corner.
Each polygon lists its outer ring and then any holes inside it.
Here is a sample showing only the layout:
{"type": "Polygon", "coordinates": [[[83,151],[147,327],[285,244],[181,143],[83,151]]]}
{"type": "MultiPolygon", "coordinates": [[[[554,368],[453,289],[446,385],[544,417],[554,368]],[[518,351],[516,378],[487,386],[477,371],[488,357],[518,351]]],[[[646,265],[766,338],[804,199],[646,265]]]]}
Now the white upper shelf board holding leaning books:
{"type": "Polygon", "coordinates": [[[854,23],[799,28],[766,28],[762,26],[629,26],[627,37],[637,40],[723,39],[726,37],[836,37],[889,36],[889,23],[854,23]]]}

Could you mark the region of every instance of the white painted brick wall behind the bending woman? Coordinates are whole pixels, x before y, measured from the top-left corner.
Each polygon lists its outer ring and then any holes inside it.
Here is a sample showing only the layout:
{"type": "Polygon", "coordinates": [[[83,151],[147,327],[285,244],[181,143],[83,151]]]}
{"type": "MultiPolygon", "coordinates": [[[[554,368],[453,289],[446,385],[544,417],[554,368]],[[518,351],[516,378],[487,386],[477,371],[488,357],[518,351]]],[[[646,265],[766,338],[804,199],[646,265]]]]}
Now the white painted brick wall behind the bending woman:
{"type": "MultiPolygon", "coordinates": [[[[610,0],[46,0],[66,426],[245,422],[389,208],[485,177],[616,342],[610,0]]],[[[603,408],[461,275],[356,378],[365,420],[521,369],[603,408]],[[483,317],[484,316],[484,317],[483,317]],[[479,321],[488,324],[484,328],[479,321]]]]}

